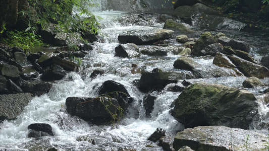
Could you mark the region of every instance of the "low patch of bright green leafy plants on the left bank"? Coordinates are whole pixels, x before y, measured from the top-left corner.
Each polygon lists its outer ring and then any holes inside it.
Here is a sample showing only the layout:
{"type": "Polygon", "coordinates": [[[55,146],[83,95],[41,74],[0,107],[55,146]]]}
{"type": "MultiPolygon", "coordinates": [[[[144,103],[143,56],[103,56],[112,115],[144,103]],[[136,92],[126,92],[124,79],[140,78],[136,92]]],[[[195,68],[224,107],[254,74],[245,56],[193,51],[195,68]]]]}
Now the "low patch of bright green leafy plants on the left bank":
{"type": "Polygon", "coordinates": [[[33,46],[41,46],[43,44],[40,36],[27,31],[7,31],[7,38],[2,38],[1,42],[9,46],[21,47],[24,51],[30,51],[33,46]]]}

